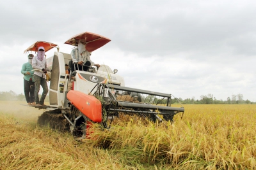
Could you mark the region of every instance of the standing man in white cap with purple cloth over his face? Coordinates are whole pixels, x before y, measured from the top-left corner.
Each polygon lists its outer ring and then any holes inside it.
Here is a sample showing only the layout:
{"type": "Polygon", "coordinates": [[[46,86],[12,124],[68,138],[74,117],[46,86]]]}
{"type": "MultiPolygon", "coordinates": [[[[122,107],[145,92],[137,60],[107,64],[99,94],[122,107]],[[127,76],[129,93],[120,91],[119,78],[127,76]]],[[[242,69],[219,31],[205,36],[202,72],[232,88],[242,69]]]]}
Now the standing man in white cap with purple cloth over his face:
{"type": "Polygon", "coordinates": [[[45,50],[43,46],[38,48],[37,55],[33,57],[32,67],[35,69],[34,80],[35,80],[35,106],[45,106],[44,99],[48,93],[48,86],[46,83],[47,71],[51,71],[47,68],[46,59],[45,59],[45,50]],[[38,92],[40,90],[40,85],[43,88],[43,93],[39,101],[38,92]]]}

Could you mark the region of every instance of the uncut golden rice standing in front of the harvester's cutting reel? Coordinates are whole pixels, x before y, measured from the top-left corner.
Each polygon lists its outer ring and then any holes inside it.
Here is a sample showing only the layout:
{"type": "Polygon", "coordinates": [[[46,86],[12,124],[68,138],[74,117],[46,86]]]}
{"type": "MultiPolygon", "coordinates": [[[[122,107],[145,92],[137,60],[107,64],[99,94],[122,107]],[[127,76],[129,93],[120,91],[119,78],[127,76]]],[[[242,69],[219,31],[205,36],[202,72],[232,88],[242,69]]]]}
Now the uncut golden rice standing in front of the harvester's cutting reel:
{"type": "MultiPolygon", "coordinates": [[[[176,169],[256,169],[255,105],[186,105],[174,124],[116,125],[93,145],[176,169]]],[[[95,129],[93,129],[95,130],[95,129]]]]}

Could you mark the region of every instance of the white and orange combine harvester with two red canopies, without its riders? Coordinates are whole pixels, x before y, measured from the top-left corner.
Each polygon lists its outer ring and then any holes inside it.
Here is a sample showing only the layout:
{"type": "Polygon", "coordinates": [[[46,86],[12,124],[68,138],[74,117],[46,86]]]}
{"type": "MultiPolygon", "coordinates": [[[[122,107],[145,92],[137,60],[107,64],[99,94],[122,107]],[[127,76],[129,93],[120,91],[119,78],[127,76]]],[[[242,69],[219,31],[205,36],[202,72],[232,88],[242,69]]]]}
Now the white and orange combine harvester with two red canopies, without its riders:
{"type": "MultiPolygon", "coordinates": [[[[99,34],[83,32],[65,44],[77,46],[79,40],[86,43],[89,52],[111,41],[99,34]]],[[[49,124],[64,131],[69,129],[74,136],[86,138],[90,124],[99,123],[103,129],[109,129],[120,115],[138,115],[153,122],[173,122],[174,115],[184,113],[183,107],[171,107],[171,94],[125,87],[124,78],[116,74],[117,69],[112,71],[107,65],[71,72],[70,54],[59,52],[58,45],[53,43],[38,41],[25,52],[36,51],[39,46],[44,46],[45,52],[54,47],[58,49],[47,59],[47,67],[52,69],[50,104],[38,118],[40,125],[49,124]]]]}

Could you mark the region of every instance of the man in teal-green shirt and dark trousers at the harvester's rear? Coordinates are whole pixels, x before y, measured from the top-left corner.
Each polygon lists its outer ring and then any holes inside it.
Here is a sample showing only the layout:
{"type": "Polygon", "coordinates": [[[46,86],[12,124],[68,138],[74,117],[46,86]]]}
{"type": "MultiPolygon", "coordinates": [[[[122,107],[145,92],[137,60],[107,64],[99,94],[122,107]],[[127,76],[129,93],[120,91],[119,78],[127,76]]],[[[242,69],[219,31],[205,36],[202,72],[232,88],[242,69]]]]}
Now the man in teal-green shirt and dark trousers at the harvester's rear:
{"type": "Polygon", "coordinates": [[[21,74],[24,75],[24,94],[28,105],[35,105],[35,80],[34,71],[32,71],[32,59],[34,55],[28,55],[28,62],[24,63],[21,68],[21,74]]]}

